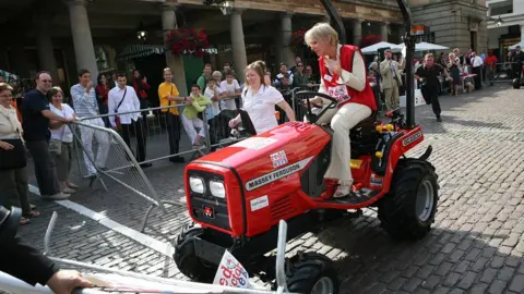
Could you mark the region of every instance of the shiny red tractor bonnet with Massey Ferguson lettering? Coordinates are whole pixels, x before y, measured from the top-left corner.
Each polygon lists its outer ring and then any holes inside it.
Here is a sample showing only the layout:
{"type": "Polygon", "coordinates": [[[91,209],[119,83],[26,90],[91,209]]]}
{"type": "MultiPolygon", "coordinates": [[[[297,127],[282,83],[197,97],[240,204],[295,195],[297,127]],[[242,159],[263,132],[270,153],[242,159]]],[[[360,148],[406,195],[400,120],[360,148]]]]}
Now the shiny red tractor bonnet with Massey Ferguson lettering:
{"type": "Polygon", "coordinates": [[[235,169],[246,189],[303,170],[331,140],[320,126],[288,122],[200,158],[235,169]]]}

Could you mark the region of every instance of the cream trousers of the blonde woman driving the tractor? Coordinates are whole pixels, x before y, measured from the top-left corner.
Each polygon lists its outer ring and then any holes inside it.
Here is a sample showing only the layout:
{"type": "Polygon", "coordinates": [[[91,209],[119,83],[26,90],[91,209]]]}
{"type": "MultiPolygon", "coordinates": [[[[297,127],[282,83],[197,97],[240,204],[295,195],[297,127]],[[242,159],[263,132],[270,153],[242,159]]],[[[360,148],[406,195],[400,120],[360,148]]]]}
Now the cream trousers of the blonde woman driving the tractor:
{"type": "Polygon", "coordinates": [[[331,163],[325,173],[327,179],[336,179],[341,183],[353,182],[350,160],[352,145],[349,142],[349,131],[362,120],[371,115],[371,109],[359,103],[344,105],[337,109],[329,110],[323,118],[331,119],[331,128],[333,128],[333,142],[331,147],[331,163]]]}

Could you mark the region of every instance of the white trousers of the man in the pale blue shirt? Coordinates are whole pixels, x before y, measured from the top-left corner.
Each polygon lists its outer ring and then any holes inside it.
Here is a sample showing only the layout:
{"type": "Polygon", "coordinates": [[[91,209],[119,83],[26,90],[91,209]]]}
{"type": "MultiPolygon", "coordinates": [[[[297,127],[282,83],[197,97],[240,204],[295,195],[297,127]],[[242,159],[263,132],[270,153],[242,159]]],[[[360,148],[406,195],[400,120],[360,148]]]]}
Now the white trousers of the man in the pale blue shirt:
{"type": "MultiPolygon", "coordinates": [[[[93,119],[82,121],[85,124],[106,127],[102,119],[93,119]]],[[[93,162],[98,168],[106,167],[107,156],[109,154],[110,137],[106,132],[98,131],[96,128],[80,126],[80,133],[82,134],[82,148],[84,149],[84,163],[88,174],[96,173],[96,169],[93,162]],[[93,140],[95,137],[95,140],[93,140]],[[93,154],[93,146],[97,147],[96,157],[93,154]],[[93,162],[91,159],[93,159],[93,162]]]]}

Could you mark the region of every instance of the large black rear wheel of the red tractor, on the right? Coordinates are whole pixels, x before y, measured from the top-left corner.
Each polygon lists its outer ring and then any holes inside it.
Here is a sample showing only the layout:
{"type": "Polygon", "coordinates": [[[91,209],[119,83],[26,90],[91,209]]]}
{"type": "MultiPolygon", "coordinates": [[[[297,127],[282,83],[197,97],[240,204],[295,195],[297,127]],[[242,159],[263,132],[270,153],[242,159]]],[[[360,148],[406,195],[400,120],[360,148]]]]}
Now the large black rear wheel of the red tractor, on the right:
{"type": "Polygon", "coordinates": [[[437,181],[431,163],[417,159],[398,161],[390,193],[379,203],[382,229],[398,240],[426,236],[437,212],[437,181]]]}

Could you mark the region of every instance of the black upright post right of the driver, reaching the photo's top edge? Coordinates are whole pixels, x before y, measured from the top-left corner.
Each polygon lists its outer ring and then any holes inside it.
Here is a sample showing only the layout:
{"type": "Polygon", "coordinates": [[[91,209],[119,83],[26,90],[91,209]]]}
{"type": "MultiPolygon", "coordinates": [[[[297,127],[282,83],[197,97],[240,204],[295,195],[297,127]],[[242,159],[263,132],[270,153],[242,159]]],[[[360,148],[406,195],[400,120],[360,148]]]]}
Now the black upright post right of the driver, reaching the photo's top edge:
{"type": "Polygon", "coordinates": [[[415,82],[413,79],[413,56],[415,53],[415,39],[412,36],[412,12],[409,11],[406,0],[396,0],[404,19],[405,35],[402,37],[406,47],[406,127],[415,127],[415,82]]]}

